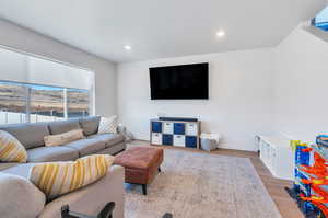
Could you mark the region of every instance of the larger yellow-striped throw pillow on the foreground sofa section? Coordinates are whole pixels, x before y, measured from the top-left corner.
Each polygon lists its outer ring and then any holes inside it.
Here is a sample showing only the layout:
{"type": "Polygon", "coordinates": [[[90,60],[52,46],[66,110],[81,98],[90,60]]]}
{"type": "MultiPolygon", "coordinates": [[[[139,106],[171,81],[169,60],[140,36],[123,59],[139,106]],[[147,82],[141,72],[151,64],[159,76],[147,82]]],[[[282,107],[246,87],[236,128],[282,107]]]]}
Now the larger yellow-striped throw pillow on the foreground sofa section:
{"type": "Polygon", "coordinates": [[[113,156],[94,154],[75,161],[38,163],[32,167],[28,179],[48,199],[54,199],[96,182],[113,162],[113,156]]]}

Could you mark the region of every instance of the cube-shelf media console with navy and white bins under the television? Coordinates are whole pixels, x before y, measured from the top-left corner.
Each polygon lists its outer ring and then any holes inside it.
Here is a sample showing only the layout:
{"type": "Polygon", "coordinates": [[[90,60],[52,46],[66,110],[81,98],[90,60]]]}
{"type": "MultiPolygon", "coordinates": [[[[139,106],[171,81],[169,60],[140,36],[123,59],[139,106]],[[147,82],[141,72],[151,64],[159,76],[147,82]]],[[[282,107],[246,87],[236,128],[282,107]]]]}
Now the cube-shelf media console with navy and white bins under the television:
{"type": "Polygon", "coordinates": [[[199,149],[200,122],[195,118],[151,119],[151,144],[199,149]]]}

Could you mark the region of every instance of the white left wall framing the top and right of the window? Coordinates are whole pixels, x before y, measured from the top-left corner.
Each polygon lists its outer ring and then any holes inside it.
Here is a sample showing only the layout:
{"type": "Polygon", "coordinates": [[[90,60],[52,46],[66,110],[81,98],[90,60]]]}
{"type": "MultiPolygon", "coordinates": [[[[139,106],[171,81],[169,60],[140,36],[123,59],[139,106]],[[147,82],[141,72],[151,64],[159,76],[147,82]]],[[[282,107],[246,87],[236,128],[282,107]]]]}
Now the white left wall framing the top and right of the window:
{"type": "MultiPolygon", "coordinates": [[[[0,45],[91,69],[95,72],[95,113],[113,115],[116,105],[116,65],[0,19],[0,45]]],[[[72,28],[72,31],[74,31],[72,28]]],[[[1,73],[9,72],[0,72],[1,73]]]]}

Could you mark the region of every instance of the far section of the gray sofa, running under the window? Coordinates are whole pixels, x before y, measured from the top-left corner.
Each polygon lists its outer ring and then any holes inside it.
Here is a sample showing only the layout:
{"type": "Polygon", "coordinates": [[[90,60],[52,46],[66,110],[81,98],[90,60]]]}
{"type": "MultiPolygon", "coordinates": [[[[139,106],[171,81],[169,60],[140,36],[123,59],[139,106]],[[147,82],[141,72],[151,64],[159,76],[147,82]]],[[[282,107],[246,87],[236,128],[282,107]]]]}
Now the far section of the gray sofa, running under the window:
{"type": "MultiPolygon", "coordinates": [[[[122,135],[97,134],[99,119],[98,116],[92,116],[50,123],[2,125],[0,130],[10,133],[21,141],[27,150],[27,162],[69,161],[94,153],[116,154],[125,150],[122,135]],[[45,136],[63,134],[78,128],[83,129],[85,139],[63,146],[45,146],[45,136]]],[[[0,162],[0,170],[13,165],[13,163],[0,162]]]]}

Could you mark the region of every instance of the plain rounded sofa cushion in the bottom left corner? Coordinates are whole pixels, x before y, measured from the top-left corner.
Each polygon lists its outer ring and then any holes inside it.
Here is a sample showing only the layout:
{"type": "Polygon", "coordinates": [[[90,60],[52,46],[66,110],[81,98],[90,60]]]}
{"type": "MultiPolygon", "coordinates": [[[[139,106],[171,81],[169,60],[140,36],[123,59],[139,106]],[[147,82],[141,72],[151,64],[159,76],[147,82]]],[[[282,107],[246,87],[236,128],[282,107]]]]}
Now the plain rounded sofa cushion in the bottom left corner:
{"type": "Polygon", "coordinates": [[[0,216],[35,218],[44,209],[45,195],[30,181],[17,175],[0,173],[0,216]]]}

